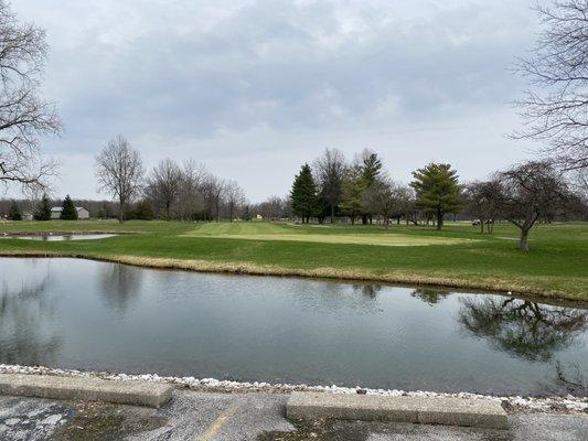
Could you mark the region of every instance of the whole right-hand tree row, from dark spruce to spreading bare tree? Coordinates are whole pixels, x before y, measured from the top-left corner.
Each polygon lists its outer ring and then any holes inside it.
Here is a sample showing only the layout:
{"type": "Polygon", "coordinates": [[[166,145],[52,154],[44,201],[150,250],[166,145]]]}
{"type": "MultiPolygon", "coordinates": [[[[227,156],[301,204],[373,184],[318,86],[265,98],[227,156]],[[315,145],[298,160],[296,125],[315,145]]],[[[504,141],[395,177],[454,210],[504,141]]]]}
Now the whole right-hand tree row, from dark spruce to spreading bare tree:
{"type": "MultiPolygon", "coordinates": [[[[586,173],[578,174],[586,181],[586,173]]],[[[550,222],[586,213],[586,183],[569,178],[548,160],[530,161],[494,173],[489,180],[462,184],[450,164],[429,163],[413,172],[409,185],[395,183],[382,160],[364,150],[351,163],[343,153],[325,150],[311,168],[303,164],[290,192],[291,208],[302,223],[335,215],[351,223],[371,224],[377,216],[386,227],[392,218],[418,223],[435,219],[441,229],[449,213],[466,213],[492,233],[493,224],[507,220],[521,229],[520,247],[528,249],[528,232],[541,220],[550,222]]]]}

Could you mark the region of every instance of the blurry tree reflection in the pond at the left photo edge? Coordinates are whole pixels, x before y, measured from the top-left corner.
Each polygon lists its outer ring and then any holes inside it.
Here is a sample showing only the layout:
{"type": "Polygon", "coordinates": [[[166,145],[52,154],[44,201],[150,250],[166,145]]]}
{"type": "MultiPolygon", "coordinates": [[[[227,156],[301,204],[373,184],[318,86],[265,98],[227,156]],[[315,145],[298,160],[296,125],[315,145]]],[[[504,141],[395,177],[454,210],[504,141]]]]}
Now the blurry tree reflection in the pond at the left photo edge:
{"type": "Polygon", "coordinates": [[[6,283],[0,291],[0,362],[21,365],[50,365],[61,346],[56,335],[43,333],[53,304],[45,298],[49,276],[19,289],[6,283]]]}

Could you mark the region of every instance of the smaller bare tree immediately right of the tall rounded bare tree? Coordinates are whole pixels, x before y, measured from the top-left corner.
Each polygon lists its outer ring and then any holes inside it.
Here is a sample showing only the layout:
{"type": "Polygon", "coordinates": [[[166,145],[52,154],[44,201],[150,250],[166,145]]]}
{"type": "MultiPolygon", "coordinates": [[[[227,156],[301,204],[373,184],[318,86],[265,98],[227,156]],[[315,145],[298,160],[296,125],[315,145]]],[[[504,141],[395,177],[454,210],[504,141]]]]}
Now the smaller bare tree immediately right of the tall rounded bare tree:
{"type": "Polygon", "coordinates": [[[158,208],[163,208],[167,220],[179,201],[181,184],[182,170],[169,158],[156,165],[147,178],[145,194],[158,208]]]}

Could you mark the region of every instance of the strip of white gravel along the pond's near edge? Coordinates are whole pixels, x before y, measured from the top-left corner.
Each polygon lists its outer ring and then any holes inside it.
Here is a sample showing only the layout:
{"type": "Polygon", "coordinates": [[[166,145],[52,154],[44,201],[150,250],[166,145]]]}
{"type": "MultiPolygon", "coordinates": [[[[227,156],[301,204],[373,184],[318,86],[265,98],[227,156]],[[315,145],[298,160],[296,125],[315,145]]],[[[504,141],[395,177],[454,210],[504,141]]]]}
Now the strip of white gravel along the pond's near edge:
{"type": "Polygon", "coordinates": [[[357,394],[362,389],[370,395],[389,395],[389,396],[409,396],[409,397],[462,397],[462,398],[479,398],[492,399],[498,401],[506,401],[518,410],[534,410],[534,411],[568,411],[568,412],[588,412],[588,398],[579,398],[568,395],[566,397],[520,397],[520,396],[485,396],[470,392],[459,394],[440,394],[432,391],[405,391],[397,389],[368,389],[361,387],[341,387],[332,386],[308,386],[308,385],[288,385],[255,381],[240,383],[231,380],[218,380],[215,378],[194,378],[194,377],[165,377],[157,374],[111,374],[106,372],[83,372],[77,369],[58,369],[44,366],[20,366],[20,365],[4,365],[0,364],[0,374],[36,374],[36,375],[58,375],[72,377],[98,377],[103,379],[115,380],[142,380],[154,383],[167,383],[175,387],[190,388],[195,390],[214,390],[214,391],[272,391],[272,392],[289,392],[293,390],[306,391],[324,391],[332,394],[357,394]]]}

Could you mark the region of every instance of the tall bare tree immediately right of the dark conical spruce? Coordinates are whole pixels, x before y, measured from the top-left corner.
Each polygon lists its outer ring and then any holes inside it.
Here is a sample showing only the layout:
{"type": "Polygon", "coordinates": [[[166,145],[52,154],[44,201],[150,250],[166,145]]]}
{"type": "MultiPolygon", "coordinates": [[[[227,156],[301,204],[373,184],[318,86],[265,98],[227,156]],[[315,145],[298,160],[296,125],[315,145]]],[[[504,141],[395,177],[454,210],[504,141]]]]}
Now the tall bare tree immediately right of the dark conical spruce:
{"type": "Polygon", "coordinates": [[[319,193],[329,207],[331,224],[334,222],[335,207],[343,195],[345,157],[336,149],[325,149],[322,157],[314,162],[319,193]]]}

